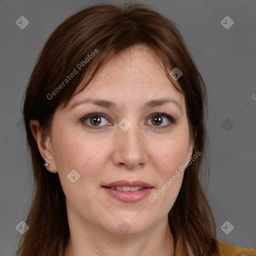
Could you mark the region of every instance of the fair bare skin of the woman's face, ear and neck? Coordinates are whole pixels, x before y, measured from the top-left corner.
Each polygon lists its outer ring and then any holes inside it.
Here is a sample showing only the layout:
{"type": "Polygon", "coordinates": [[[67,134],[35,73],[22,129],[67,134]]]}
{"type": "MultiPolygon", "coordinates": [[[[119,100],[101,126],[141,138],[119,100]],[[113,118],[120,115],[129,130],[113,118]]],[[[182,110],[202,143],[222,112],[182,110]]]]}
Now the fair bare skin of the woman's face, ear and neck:
{"type": "Polygon", "coordinates": [[[101,187],[121,179],[143,180],[154,187],[149,196],[153,195],[192,156],[184,96],[149,48],[134,46],[108,61],[65,108],[56,109],[46,137],[37,120],[30,120],[30,128],[43,159],[51,164],[47,170],[58,172],[66,196],[70,230],[66,256],[174,255],[167,214],[182,173],[154,202],[148,197],[122,202],[101,187]],[[71,107],[87,97],[111,100],[117,108],[90,103],[71,107]],[[160,97],[175,99],[181,109],[174,103],[143,108],[145,102],[160,97]],[[157,125],[150,115],[163,111],[176,123],[160,115],[162,123],[157,125]],[[95,126],[89,118],[80,121],[89,113],[106,115],[99,129],[90,128],[95,126]],[[131,123],[127,131],[118,127],[123,118],[131,123]],[[165,124],[169,126],[160,128],[165,124]],[[72,169],[80,174],[74,183],[67,178],[72,169]],[[127,233],[118,228],[123,221],[130,226],[127,233]]]}

